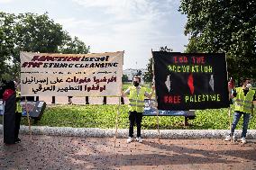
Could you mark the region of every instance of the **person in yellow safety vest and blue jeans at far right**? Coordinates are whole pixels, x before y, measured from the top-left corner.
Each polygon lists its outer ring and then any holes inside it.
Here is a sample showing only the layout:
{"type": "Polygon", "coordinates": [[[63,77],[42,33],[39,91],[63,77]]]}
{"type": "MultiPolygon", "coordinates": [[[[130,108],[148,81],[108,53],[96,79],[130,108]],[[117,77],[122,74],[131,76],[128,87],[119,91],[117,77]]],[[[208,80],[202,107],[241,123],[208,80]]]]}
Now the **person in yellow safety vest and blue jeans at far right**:
{"type": "Polygon", "coordinates": [[[242,124],[242,144],[246,143],[246,133],[249,125],[250,118],[253,116],[253,107],[256,104],[256,93],[251,89],[251,81],[248,78],[242,80],[242,86],[235,89],[230,89],[231,98],[234,99],[234,114],[233,114],[233,123],[231,128],[231,133],[225,138],[226,141],[233,139],[234,129],[243,115],[243,124],[242,124]]]}

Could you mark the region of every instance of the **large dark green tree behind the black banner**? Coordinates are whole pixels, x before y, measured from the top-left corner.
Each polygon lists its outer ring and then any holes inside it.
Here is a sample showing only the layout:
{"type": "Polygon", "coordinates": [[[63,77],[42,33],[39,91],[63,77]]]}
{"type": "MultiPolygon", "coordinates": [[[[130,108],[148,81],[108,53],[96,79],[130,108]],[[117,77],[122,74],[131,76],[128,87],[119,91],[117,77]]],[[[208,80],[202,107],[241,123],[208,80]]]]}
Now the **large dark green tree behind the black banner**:
{"type": "Polygon", "coordinates": [[[187,14],[186,52],[224,52],[230,75],[256,76],[254,0],[181,0],[179,11],[187,14]]]}

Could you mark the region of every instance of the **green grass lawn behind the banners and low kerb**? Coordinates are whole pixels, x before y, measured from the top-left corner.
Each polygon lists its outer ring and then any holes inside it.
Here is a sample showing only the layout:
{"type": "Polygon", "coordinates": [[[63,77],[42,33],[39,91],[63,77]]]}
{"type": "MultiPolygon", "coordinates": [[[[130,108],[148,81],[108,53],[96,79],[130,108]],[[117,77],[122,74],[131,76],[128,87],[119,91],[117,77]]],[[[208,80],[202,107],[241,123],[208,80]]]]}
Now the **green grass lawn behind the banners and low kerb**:
{"type": "MultiPolygon", "coordinates": [[[[41,121],[34,123],[34,126],[50,127],[76,127],[76,128],[115,128],[115,116],[118,105],[56,105],[47,107],[41,117],[41,121]]],[[[196,119],[189,120],[190,126],[184,127],[183,116],[160,116],[160,129],[190,129],[190,130],[228,130],[229,117],[228,109],[202,110],[196,111],[196,119]]],[[[120,106],[119,129],[127,129],[128,106],[120,106]]],[[[2,123],[2,117],[0,117],[2,123]]],[[[22,124],[27,125],[26,117],[23,117],[22,124]]],[[[242,128],[242,120],[237,129],[242,128]]],[[[157,117],[144,116],[142,129],[156,130],[157,117]]],[[[249,129],[256,129],[256,118],[250,122],[249,129]]]]}

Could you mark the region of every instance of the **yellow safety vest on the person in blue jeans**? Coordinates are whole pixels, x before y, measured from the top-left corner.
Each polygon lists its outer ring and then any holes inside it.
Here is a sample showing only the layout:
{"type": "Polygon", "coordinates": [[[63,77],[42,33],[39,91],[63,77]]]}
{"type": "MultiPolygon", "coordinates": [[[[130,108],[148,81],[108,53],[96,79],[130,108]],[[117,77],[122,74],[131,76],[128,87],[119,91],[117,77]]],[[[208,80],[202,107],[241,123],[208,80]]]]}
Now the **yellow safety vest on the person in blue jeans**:
{"type": "Polygon", "coordinates": [[[234,98],[234,111],[240,111],[245,113],[251,113],[251,106],[254,90],[249,89],[249,92],[244,96],[242,87],[235,88],[236,97],[234,98]]]}

